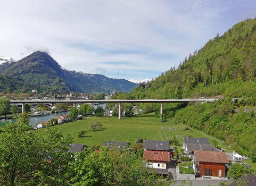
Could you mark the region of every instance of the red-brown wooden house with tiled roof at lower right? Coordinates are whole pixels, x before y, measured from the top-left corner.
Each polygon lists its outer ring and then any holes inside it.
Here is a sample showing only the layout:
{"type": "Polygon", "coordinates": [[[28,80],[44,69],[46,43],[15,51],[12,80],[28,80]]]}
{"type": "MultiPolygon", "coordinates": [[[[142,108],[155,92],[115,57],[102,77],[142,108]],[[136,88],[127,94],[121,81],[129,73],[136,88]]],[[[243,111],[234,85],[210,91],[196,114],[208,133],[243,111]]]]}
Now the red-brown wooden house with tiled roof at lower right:
{"type": "Polygon", "coordinates": [[[193,168],[200,176],[225,177],[229,160],[224,152],[194,150],[193,168]]]}

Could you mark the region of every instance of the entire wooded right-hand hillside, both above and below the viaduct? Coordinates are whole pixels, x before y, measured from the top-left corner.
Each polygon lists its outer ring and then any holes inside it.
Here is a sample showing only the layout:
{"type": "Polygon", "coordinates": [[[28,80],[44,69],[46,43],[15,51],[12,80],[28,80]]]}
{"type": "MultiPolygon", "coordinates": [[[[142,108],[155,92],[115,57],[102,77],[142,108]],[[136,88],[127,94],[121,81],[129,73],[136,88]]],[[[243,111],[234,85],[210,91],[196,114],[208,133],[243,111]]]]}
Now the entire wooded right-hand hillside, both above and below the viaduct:
{"type": "MultiPolygon", "coordinates": [[[[256,19],[235,24],[224,35],[185,57],[154,81],[130,94],[112,98],[168,99],[218,97],[216,103],[164,104],[163,113],[176,123],[210,133],[238,153],[256,155],[256,19]],[[233,99],[232,98],[237,98],[233,99]]],[[[159,113],[159,104],[141,104],[144,112],[159,113]]]]}

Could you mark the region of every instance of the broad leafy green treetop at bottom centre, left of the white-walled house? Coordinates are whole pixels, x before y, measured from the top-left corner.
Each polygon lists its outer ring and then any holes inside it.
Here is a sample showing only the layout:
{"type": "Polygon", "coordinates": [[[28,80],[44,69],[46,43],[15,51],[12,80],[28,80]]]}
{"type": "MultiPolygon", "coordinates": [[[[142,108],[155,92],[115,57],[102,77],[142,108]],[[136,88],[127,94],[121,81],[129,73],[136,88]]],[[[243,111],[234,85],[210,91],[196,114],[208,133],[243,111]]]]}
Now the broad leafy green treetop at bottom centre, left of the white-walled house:
{"type": "Polygon", "coordinates": [[[130,156],[129,151],[123,151],[122,156],[118,149],[80,153],[78,160],[70,163],[71,185],[170,185],[169,181],[149,173],[143,169],[141,156],[130,156]]]}

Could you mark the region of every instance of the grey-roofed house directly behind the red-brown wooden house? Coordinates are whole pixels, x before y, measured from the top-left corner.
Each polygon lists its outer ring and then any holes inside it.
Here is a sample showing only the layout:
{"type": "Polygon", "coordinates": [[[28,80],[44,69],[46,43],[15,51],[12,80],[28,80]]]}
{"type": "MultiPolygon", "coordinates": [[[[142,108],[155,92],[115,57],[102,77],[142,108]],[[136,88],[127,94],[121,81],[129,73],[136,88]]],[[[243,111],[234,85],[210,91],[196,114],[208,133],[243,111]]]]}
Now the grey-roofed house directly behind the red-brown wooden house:
{"type": "Polygon", "coordinates": [[[200,143],[187,143],[186,153],[190,158],[193,158],[194,150],[203,150],[203,151],[218,151],[214,145],[210,144],[200,144],[200,143]]]}

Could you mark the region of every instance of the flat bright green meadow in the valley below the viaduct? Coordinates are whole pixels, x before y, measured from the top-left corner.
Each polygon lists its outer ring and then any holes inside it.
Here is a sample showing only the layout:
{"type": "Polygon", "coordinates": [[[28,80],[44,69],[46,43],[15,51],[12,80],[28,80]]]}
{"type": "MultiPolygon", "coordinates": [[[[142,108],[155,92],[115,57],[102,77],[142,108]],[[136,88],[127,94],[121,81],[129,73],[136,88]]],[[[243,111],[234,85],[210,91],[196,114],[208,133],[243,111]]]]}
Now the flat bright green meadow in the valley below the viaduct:
{"type": "MultiPolygon", "coordinates": [[[[192,134],[193,137],[205,138],[200,133],[195,131],[186,131],[183,124],[174,124],[174,121],[167,120],[160,122],[155,117],[154,113],[137,115],[133,117],[89,117],[88,119],[78,120],[75,122],[64,123],[62,125],[54,126],[63,133],[73,133],[75,136],[74,143],[83,143],[89,147],[102,145],[104,140],[109,141],[127,141],[131,146],[136,142],[138,136],[148,140],[166,140],[161,128],[163,128],[166,135],[171,139],[176,136],[179,143],[182,145],[183,137],[187,134],[192,134]],[[87,130],[90,123],[100,122],[103,125],[101,131],[88,131],[85,137],[79,138],[78,132],[87,130]],[[169,128],[175,128],[170,129],[169,128]]],[[[38,130],[44,132],[44,129],[38,130]]],[[[210,140],[213,142],[213,140],[210,140]]],[[[181,148],[181,146],[179,147],[181,148]]]]}

